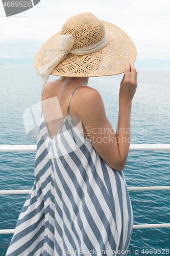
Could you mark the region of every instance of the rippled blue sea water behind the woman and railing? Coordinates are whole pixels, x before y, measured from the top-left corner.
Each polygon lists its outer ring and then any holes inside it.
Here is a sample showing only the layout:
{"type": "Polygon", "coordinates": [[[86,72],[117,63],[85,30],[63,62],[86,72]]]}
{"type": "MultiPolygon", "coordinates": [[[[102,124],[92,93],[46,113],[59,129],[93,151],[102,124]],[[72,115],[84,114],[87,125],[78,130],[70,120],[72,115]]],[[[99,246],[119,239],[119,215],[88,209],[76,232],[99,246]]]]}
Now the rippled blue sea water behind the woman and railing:
{"type": "MultiPolygon", "coordinates": [[[[42,84],[34,67],[1,66],[1,144],[36,144],[28,139],[23,113],[40,102],[42,84]]],[[[58,77],[50,76],[49,81],[58,77]]],[[[118,92],[123,74],[91,77],[88,86],[103,98],[116,132],[118,92]]],[[[131,143],[170,143],[170,70],[138,70],[131,111],[131,143]]],[[[130,151],[124,175],[127,186],[168,186],[169,151],[130,151]]],[[[31,189],[35,152],[0,153],[0,189],[31,189]]],[[[129,191],[134,224],[170,223],[170,191],[129,191]]],[[[14,229],[28,195],[0,195],[0,229],[14,229]]],[[[12,234],[0,234],[5,255],[12,234]]],[[[133,229],[128,255],[168,255],[170,228],[133,229]],[[158,250],[160,249],[160,250],[158,250]]],[[[72,255],[71,255],[72,256],[72,255]]]]}

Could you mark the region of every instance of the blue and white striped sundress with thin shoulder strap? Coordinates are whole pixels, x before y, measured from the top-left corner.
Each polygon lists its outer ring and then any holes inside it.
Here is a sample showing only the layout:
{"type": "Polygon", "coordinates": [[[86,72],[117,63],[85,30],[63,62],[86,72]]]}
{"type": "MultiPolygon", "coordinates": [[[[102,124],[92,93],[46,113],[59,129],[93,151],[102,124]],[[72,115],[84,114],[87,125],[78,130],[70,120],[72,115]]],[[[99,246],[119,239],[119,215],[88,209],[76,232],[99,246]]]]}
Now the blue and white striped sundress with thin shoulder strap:
{"type": "Polygon", "coordinates": [[[72,121],[69,102],[53,140],[41,106],[35,181],[6,256],[122,256],[129,248],[133,210],[123,170],[95,151],[72,121]]]}

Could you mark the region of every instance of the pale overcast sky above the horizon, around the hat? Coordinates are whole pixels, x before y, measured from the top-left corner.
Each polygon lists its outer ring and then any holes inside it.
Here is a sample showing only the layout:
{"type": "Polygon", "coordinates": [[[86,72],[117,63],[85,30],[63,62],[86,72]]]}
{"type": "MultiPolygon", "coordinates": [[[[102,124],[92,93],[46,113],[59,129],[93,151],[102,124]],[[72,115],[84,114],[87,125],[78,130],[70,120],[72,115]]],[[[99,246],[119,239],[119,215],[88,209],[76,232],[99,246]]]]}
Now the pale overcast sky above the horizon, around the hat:
{"type": "Polygon", "coordinates": [[[138,59],[170,59],[169,0],[41,0],[11,17],[6,17],[0,2],[0,57],[34,57],[68,17],[82,12],[123,29],[133,40],[138,59]]]}

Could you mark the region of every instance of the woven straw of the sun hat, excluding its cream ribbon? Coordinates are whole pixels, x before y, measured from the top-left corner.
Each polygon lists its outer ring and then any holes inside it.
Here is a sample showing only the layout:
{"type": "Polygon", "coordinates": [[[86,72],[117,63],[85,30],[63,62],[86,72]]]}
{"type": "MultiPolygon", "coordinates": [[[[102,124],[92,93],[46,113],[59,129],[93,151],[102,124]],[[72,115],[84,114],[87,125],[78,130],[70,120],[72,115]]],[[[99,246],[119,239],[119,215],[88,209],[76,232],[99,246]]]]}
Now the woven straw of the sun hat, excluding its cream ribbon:
{"type": "Polygon", "coordinates": [[[117,26],[100,20],[92,13],[80,13],[68,18],[60,32],[50,37],[39,49],[34,58],[38,70],[55,56],[42,64],[44,49],[60,46],[62,35],[72,35],[74,44],[71,50],[92,46],[107,36],[107,44],[99,51],[75,55],[68,53],[52,70],[51,75],[66,77],[111,76],[125,72],[127,62],[136,59],[136,47],[131,38],[117,26]]]}

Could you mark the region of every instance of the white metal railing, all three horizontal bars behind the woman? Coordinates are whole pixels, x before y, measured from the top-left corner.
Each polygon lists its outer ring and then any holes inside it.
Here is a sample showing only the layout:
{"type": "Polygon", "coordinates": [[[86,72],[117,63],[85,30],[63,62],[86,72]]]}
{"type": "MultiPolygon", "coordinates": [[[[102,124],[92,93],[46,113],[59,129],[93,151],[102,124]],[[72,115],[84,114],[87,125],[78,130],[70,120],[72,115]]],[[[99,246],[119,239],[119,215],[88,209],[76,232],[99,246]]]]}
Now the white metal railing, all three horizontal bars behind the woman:
{"type": "MultiPolygon", "coordinates": [[[[0,145],[0,152],[35,152],[37,145],[0,145]]],[[[170,144],[130,144],[130,151],[169,151],[170,144]]],[[[146,190],[170,190],[170,186],[151,186],[151,187],[128,187],[129,191],[146,190]]],[[[0,190],[0,195],[29,194],[31,190],[0,190]]],[[[136,228],[162,228],[170,227],[170,223],[160,224],[136,224],[136,228]]],[[[0,229],[0,234],[14,233],[14,229],[0,229]]]]}

